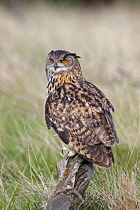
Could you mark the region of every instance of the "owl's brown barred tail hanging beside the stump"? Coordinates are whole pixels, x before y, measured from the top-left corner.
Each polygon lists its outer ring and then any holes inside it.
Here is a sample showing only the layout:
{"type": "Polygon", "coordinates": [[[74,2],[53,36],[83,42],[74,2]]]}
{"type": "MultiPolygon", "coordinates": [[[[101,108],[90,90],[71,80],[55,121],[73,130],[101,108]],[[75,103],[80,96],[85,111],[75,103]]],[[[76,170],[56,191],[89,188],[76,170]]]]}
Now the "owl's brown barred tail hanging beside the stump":
{"type": "Polygon", "coordinates": [[[114,157],[111,147],[106,147],[104,144],[100,143],[94,146],[88,145],[86,150],[86,153],[82,154],[82,151],[80,153],[89,162],[105,168],[109,168],[113,165],[114,157]]]}

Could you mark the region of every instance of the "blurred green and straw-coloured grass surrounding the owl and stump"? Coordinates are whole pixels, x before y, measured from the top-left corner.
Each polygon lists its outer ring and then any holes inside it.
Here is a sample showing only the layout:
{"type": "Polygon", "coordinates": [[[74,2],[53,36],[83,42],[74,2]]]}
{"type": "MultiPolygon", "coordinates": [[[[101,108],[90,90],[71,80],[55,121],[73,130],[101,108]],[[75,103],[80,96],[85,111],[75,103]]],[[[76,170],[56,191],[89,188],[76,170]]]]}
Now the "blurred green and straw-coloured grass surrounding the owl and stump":
{"type": "Polygon", "coordinates": [[[38,209],[53,192],[63,143],[44,120],[45,57],[76,52],[115,107],[115,164],[95,166],[89,209],[139,209],[140,8],[0,8],[0,209],[38,209]]]}

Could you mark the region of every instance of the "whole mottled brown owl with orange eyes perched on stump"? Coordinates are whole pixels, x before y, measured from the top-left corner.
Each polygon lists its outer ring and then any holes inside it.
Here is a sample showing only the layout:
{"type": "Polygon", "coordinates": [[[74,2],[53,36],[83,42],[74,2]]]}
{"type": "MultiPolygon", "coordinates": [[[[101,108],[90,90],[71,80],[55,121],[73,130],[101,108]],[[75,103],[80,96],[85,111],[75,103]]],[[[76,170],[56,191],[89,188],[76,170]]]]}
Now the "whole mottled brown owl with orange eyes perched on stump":
{"type": "Polygon", "coordinates": [[[79,154],[108,168],[114,163],[112,146],[118,143],[114,108],[101,90],[84,79],[78,58],[65,50],[48,54],[46,124],[68,145],[69,156],[79,154]]]}

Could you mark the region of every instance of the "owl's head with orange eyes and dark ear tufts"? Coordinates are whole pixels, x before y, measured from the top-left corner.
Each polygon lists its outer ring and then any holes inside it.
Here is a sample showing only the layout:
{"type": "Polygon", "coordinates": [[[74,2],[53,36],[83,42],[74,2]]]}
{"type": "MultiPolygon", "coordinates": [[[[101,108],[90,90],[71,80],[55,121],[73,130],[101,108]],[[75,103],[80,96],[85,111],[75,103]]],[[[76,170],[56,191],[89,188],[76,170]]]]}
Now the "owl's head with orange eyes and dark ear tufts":
{"type": "Polygon", "coordinates": [[[76,53],[70,53],[65,50],[52,50],[47,56],[45,66],[48,80],[56,74],[63,73],[73,73],[77,76],[82,76],[78,58],[80,56],[77,56],[76,53]]]}

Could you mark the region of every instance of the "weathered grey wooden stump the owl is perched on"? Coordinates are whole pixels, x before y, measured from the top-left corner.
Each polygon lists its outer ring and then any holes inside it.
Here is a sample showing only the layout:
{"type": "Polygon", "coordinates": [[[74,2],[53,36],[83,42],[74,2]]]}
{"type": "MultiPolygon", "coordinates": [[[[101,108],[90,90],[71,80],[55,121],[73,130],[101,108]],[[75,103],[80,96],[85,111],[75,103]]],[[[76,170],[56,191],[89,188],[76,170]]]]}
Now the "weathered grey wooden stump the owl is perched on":
{"type": "Polygon", "coordinates": [[[84,193],[93,176],[93,164],[80,155],[67,155],[57,163],[58,184],[53,196],[40,210],[82,210],[84,193]]]}

